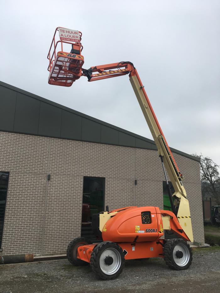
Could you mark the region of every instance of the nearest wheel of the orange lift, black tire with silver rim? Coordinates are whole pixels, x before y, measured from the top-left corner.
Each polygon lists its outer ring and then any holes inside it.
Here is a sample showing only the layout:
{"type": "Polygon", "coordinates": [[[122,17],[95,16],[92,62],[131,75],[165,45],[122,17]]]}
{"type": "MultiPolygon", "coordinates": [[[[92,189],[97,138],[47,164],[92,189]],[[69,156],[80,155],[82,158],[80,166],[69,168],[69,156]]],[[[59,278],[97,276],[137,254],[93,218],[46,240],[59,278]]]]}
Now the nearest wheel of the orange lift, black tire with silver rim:
{"type": "Polygon", "coordinates": [[[93,273],[96,274],[96,277],[103,280],[113,280],[117,278],[122,273],[124,264],[124,253],[121,247],[114,242],[101,242],[91,253],[91,269],[93,273]],[[105,252],[108,254],[107,256],[105,252]],[[109,272],[107,272],[108,269],[110,269],[109,272]]]}

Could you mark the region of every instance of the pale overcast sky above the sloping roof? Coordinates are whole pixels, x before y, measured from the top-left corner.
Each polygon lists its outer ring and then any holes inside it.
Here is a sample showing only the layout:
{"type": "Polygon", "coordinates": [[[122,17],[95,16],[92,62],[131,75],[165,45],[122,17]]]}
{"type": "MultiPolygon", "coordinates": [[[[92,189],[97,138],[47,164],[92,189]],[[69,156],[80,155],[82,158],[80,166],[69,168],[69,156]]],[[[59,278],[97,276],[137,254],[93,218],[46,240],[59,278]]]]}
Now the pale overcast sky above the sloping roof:
{"type": "Polygon", "coordinates": [[[49,85],[58,26],[80,30],[84,68],[134,63],[169,146],[220,165],[220,1],[3,1],[0,80],[152,139],[128,76],[49,85]]]}

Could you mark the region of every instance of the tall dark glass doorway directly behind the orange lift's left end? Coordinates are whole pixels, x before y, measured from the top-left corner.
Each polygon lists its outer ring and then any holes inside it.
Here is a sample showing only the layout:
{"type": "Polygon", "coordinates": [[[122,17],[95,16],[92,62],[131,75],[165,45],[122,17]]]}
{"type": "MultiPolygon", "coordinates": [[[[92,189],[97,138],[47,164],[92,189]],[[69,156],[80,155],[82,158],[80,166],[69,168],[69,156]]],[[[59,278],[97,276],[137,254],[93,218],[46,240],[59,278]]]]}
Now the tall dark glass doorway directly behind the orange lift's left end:
{"type": "Polygon", "coordinates": [[[83,178],[83,202],[82,202],[82,225],[81,237],[95,241],[92,233],[92,215],[104,210],[104,187],[105,178],[83,178]]]}

